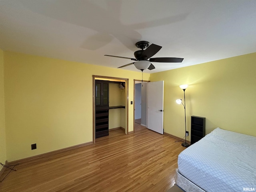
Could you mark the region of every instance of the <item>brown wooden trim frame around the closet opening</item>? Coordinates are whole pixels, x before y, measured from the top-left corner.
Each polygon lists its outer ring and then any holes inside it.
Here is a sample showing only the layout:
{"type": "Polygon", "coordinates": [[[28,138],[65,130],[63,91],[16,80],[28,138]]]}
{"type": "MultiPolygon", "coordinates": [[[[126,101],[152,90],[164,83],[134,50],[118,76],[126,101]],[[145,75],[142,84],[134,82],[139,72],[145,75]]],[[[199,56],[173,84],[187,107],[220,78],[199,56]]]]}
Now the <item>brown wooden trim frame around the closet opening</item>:
{"type": "Polygon", "coordinates": [[[92,143],[95,143],[95,79],[102,78],[102,79],[111,79],[111,80],[124,80],[125,87],[126,87],[126,114],[127,114],[127,124],[125,127],[125,134],[128,134],[128,90],[129,90],[129,79],[127,78],[119,78],[119,77],[109,77],[109,76],[99,76],[99,75],[92,75],[92,143]]]}

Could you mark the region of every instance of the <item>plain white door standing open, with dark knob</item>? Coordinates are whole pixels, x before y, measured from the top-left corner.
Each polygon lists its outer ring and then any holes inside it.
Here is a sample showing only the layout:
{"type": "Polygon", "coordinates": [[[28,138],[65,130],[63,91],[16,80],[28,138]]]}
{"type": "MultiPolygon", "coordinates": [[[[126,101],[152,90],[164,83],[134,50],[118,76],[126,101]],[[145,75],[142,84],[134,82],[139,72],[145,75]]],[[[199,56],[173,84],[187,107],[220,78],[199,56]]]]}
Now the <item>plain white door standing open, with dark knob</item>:
{"type": "Polygon", "coordinates": [[[164,81],[148,82],[148,129],[164,134],[164,81]]]}

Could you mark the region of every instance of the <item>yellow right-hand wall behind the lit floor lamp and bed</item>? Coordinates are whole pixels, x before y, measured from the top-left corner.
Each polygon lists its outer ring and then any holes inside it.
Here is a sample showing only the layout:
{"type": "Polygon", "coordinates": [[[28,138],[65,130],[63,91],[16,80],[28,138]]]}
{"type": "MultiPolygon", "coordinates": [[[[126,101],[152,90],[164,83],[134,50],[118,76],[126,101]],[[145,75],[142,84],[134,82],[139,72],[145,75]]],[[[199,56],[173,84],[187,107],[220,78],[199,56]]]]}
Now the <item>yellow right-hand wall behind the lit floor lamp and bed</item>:
{"type": "MultiPolygon", "coordinates": [[[[164,80],[164,132],[183,138],[184,98],[190,132],[192,115],[206,117],[206,134],[220,127],[256,136],[256,53],[178,68],[150,75],[164,80]]],[[[190,138],[190,136],[189,136],[190,138]]]]}

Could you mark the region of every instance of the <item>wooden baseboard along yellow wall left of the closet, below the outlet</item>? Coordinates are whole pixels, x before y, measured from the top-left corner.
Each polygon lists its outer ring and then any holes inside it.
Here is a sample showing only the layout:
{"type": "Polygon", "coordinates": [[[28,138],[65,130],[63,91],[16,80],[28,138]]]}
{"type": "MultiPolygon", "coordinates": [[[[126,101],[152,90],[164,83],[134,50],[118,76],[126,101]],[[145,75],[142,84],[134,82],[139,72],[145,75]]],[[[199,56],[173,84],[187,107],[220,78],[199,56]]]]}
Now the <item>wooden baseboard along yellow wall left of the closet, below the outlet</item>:
{"type": "Polygon", "coordinates": [[[82,144],[74,145],[74,146],[71,146],[71,147],[67,147],[67,148],[63,148],[63,149],[59,149],[59,150],[55,150],[55,151],[51,151],[51,152],[47,152],[47,153],[43,153],[43,154],[31,156],[31,157],[27,157],[27,158],[24,158],[24,159],[15,160],[15,161],[9,162],[9,164],[24,163],[24,162],[28,162],[28,161],[38,160],[38,159],[41,159],[41,158],[47,158],[47,157],[52,156],[54,154],[66,152],[68,150],[74,150],[74,149],[84,147],[84,146],[88,146],[88,145],[92,145],[92,144],[93,144],[92,141],[87,142],[87,143],[82,143],[82,144]]]}

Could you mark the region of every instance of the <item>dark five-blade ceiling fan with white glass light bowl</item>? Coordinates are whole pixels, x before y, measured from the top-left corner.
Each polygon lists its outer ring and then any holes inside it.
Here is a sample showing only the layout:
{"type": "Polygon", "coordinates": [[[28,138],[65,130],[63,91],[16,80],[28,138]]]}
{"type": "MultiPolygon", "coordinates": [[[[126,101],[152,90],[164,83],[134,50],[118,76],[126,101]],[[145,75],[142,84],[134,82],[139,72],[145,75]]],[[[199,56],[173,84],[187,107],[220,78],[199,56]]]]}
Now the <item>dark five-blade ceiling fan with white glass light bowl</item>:
{"type": "Polygon", "coordinates": [[[182,62],[183,58],[176,58],[176,57],[157,57],[157,58],[151,58],[154,56],[161,48],[162,46],[151,44],[147,41],[139,41],[136,44],[136,47],[140,48],[141,50],[138,50],[134,52],[135,58],[128,58],[128,57],[120,57],[120,56],[113,56],[113,55],[104,55],[104,56],[110,56],[110,57],[117,57],[117,58],[124,58],[124,59],[130,59],[135,62],[120,66],[118,68],[126,67],[129,65],[134,64],[134,66],[141,70],[149,69],[152,70],[155,68],[155,66],[151,62],[164,62],[164,63],[180,63],[182,62]],[[145,49],[146,48],[146,49],[145,49]]]}

